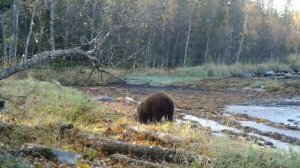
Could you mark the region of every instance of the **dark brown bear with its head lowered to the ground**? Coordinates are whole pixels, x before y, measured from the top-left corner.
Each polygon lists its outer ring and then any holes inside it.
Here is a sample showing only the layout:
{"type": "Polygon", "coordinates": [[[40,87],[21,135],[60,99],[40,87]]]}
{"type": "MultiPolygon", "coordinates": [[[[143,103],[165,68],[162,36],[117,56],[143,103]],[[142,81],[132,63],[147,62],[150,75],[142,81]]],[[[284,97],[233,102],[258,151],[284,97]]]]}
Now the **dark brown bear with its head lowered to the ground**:
{"type": "Polygon", "coordinates": [[[165,92],[155,92],[146,97],[138,106],[137,119],[141,123],[173,121],[174,101],[165,92]]]}

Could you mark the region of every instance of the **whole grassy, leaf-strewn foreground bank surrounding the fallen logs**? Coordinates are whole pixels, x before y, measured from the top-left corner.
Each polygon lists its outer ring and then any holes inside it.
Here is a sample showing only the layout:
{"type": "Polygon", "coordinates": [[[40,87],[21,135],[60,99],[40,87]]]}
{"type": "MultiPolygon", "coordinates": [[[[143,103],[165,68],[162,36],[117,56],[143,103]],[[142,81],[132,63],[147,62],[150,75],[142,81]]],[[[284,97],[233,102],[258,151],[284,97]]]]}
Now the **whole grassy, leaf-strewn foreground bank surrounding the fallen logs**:
{"type": "MultiPolygon", "coordinates": [[[[41,82],[34,79],[8,79],[0,82],[1,98],[6,100],[6,113],[0,114],[0,122],[14,124],[17,129],[9,136],[1,136],[0,142],[10,147],[19,147],[23,143],[37,143],[51,147],[75,151],[97,157],[98,151],[86,149],[74,137],[71,141],[57,140],[57,126],[61,123],[73,123],[75,128],[85,133],[108,136],[113,139],[137,144],[162,145],[172,147],[160,141],[136,135],[127,130],[127,125],[139,125],[128,112],[122,115],[111,109],[112,104],[99,104],[89,96],[57,83],[41,82]],[[125,115],[126,113],[130,115],[125,115]]],[[[116,105],[114,105],[116,106],[116,105]]],[[[192,167],[297,167],[300,155],[289,151],[277,151],[260,148],[246,140],[217,138],[206,130],[191,128],[190,124],[173,123],[143,125],[145,129],[158,130],[184,137],[188,141],[179,148],[212,158],[212,163],[192,167]]],[[[5,159],[0,156],[1,166],[5,159]]],[[[180,167],[186,167],[181,165],[180,167]]],[[[9,167],[9,166],[8,166],[9,167]]],[[[11,166],[14,167],[14,166],[11,166]]]]}

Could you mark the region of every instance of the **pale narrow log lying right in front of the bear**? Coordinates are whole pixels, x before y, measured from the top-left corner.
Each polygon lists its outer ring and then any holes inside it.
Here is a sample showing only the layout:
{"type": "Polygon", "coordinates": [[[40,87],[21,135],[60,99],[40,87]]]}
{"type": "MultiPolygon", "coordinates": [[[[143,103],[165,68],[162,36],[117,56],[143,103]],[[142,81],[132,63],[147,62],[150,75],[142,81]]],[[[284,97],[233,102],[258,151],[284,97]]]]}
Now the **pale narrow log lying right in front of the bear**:
{"type": "Polygon", "coordinates": [[[161,140],[166,143],[181,144],[185,141],[184,139],[182,139],[180,137],[177,137],[177,136],[174,136],[174,135],[171,135],[168,133],[154,131],[154,130],[145,130],[138,126],[135,126],[135,127],[129,126],[129,129],[133,130],[134,132],[140,133],[140,134],[149,135],[155,139],[161,140]]]}

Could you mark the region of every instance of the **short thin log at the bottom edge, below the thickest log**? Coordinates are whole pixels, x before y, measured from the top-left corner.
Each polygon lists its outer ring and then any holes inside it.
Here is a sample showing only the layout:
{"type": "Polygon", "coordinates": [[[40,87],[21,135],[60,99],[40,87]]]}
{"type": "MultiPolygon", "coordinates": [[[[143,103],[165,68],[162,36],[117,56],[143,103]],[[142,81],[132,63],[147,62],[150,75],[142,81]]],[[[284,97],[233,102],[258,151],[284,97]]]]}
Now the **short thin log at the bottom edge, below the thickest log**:
{"type": "Polygon", "coordinates": [[[147,168],[166,168],[168,167],[167,165],[161,165],[161,164],[155,164],[149,161],[144,161],[144,160],[137,160],[137,159],[133,159],[130,158],[128,156],[125,155],[121,155],[121,154],[112,154],[109,156],[112,160],[115,160],[117,162],[121,162],[121,163],[126,163],[129,165],[134,165],[134,166],[138,166],[138,167],[147,167],[147,168]]]}

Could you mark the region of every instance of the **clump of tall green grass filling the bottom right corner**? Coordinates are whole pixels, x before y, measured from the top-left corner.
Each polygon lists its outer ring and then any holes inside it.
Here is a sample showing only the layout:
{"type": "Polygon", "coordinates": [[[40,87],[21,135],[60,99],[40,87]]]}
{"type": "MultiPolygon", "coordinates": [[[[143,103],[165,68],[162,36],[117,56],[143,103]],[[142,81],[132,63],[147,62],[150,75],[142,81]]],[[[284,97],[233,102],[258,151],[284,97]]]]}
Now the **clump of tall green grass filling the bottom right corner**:
{"type": "Polygon", "coordinates": [[[293,168],[300,165],[300,155],[296,152],[260,148],[253,144],[239,144],[230,142],[229,139],[220,140],[211,148],[212,155],[216,158],[214,167],[293,168]]]}

